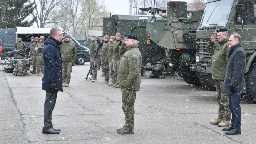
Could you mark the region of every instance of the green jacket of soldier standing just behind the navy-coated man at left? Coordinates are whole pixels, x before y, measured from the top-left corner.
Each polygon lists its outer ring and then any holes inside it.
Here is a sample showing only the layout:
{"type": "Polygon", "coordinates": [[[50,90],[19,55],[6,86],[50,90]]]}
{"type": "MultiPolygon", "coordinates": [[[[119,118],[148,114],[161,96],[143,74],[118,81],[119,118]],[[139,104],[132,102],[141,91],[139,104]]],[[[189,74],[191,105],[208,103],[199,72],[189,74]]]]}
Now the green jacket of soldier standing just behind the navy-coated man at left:
{"type": "Polygon", "coordinates": [[[64,41],[60,45],[61,61],[75,61],[77,59],[77,47],[72,41],[64,41]]]}

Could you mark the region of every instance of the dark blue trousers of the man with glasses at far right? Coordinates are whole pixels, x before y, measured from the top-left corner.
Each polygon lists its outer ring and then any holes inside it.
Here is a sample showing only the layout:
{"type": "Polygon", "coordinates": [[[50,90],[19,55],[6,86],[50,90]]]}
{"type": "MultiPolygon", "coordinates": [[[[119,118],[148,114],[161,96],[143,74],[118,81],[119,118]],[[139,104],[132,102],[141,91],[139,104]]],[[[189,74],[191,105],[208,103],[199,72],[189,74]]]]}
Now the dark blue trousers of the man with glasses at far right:
{"type": "Polygon", "coordinates": [[[231,126],[234,129],[241,128],[241,94],[229,94],[229,109],[232,113],[231,126]]]}

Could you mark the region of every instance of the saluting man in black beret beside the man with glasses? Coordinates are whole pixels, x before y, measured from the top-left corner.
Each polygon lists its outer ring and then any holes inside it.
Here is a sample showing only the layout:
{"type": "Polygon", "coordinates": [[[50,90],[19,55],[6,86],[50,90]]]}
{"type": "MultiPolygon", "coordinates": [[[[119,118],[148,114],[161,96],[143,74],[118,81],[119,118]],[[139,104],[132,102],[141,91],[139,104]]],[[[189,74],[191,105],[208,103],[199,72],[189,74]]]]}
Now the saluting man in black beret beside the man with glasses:
{"type": "Polygon", "coordinates": [[[212,53],[212,79],[216,82],[217,103],[219,104],[218,118],[210,121],[211,124],[218,124],[219,127],[230,126],[231,111],[229,109],[229,95],[221,93],[221,87],[225,80],[225,71],[228,63],[228,53],[230,51],[228,44],[228,30],[220,28],[217,30],[218,44],[214,45],[216,41],[216,34],[211,36],[207,43],[207,50],[212,53]]]}

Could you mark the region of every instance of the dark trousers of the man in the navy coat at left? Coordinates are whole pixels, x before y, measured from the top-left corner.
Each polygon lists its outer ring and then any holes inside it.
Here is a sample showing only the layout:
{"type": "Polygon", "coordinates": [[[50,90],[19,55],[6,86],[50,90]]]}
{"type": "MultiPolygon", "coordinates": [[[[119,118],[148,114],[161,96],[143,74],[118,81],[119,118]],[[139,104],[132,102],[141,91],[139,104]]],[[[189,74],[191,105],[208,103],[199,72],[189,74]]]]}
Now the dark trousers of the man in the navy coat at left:
{"type": "Polygon", "coordinates": [[[52,111],[54,110],[58,91],[46,91],[44,103],[44,129],[52,128],[52,111]]]}

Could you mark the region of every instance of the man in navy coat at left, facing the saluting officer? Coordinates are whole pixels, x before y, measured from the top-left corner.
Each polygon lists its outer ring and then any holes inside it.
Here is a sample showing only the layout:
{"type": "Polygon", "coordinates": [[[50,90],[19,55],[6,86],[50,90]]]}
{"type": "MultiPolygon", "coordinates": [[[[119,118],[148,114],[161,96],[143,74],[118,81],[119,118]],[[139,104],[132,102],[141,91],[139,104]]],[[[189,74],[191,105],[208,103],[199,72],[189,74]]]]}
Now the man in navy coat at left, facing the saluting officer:
{"type": "Polygon", "coordinates": [[[62,62],[59,45],[62,44],[62,31],[58,28],[50,30],[50,36],[45,40],[43,50],[44,76],[42,89],[46,91],[44,103],[44,134],[59,134],[60,129],[52,126],[52,111],[57,99],[58,91],[62,89],[62,62]]]}

